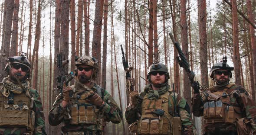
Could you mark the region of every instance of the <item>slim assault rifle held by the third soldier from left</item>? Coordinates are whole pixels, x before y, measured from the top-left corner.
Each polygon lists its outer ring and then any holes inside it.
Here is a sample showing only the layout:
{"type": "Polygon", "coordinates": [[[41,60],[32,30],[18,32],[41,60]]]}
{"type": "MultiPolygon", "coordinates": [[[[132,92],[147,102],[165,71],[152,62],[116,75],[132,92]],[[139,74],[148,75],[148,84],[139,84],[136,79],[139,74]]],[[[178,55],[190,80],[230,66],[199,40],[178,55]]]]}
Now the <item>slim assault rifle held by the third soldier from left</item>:
{"type": "MultiPolygon", "coordinates": [[[[126,90],[129,91],[129,93],[131,93],[134,90],[134,86],[135,86],[135,79],[131,78],[131,74],[130,71],[133,70],[133,67],[129,67],[128,61],[125,59],[125,52],[123,50],[123,46],[121,46],[121,51],[122,51],[122,61],[123,61],[123,66],[126,72],[126,90]]],[[[143,97],[141,96],[137,96],[136,97],[138,104],[141,104],[143,97]]],[[[140,118],[141,114],[138,113],[140,111],[140,105],[138,105],[137,107],[137,117],[140,118]]]]}

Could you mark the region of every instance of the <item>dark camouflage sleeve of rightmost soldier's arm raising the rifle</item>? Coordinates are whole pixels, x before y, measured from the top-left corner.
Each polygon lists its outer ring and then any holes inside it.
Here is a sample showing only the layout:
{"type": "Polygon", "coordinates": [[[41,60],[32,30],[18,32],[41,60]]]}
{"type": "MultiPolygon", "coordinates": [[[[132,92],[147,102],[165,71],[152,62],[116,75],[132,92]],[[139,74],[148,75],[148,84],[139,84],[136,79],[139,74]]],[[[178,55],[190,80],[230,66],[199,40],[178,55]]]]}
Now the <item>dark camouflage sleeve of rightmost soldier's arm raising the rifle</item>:
{"type": "Polygon", "coordinates": [[[192,96],[192,113],[194,114],[194,116],[200,117],[203,116],[203,100],[202,100],[202,96],[200,94],[194,94],[192,96]]]}

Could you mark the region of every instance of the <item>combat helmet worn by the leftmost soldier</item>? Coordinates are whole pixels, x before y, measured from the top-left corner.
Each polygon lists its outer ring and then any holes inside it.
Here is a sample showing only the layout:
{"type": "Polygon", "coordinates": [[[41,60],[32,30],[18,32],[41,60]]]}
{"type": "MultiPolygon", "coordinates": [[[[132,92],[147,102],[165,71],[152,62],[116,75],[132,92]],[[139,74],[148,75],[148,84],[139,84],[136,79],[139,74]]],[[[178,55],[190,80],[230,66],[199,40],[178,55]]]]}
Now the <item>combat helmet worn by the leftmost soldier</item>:
{"type": "MultiPolygon", "coordinates": [[[[13,57],[9,57],[9,62],[10,64],[22,64],[26,67],[28,67],[28,72],[26,73],[26,79],[29,79],[30,78],[30,68],[31,68],[31,64],[30,64],[30,61],[26,58],[26,53],[24,52],[21,52],[21,55],[20,56],[13,56],[13,57]]],[[[4,68],[4,71],[7,72],[7,74],[9,74],[9,66],[8,64],[6,64],[5,68],[4,68]]]]}

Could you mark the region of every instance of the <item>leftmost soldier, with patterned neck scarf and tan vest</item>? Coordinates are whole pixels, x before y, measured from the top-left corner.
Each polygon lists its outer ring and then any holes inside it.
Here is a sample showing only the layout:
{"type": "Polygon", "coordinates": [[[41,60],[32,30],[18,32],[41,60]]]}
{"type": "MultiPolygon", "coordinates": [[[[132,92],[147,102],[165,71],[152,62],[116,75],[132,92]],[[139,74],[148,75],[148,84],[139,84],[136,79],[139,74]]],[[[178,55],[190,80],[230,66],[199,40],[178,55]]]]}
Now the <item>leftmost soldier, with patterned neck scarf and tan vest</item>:
{"type": "Polygon", "coordinates": [[[9,76],[0,83],[0,135],[46,135],[41,98],[29,83],[30,62],[25,55],[8,59],[9,76]]]}

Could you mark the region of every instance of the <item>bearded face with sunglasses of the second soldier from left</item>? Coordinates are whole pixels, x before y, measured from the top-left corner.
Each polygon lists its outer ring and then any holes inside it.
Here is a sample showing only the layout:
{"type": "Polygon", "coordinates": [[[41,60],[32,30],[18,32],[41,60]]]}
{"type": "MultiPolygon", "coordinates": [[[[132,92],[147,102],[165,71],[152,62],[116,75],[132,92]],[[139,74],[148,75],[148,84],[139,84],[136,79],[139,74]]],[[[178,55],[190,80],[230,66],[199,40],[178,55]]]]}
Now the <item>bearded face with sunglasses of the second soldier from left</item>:
{"type": "Polygon", "coordinates": [[[79,65],[77,67],[77,77],[82,84],[89,83],[92,75],[92,67],[87,65],[79,65]]]}

